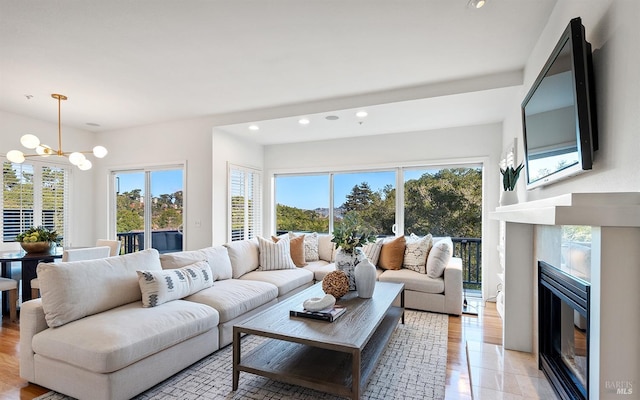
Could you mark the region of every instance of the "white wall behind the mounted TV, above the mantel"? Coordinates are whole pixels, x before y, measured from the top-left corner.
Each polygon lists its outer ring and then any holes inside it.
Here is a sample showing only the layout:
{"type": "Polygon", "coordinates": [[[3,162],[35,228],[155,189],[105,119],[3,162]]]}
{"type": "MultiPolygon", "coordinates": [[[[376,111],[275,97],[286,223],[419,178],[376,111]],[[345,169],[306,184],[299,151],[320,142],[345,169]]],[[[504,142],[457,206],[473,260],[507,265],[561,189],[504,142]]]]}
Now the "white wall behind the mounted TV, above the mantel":
{"type": "Polygon", "coordinates": [[[522,93],[504,122],[503,143],[518,137],[523,159],[520,102],[535,81],[569,20],[581,17],[593,47],[600,149],[593,169],[582,175],[526,192],[537,200],[569,192],[620,192],[640,189],[640,2],[637,0],[559,0],[525,68],[522,93]]]}

